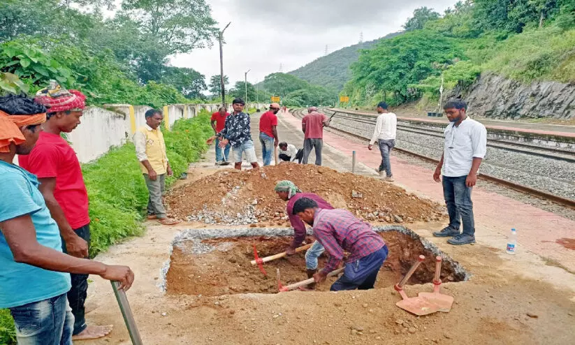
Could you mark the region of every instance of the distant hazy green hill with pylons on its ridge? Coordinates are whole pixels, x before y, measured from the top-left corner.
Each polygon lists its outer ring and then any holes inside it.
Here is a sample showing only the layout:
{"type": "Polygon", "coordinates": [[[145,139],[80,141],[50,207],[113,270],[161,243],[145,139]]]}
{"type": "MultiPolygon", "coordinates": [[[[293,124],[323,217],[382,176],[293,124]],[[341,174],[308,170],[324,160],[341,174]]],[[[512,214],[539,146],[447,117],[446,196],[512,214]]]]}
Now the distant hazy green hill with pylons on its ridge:
{"type": "Polygon", "coordinates": [[[295,75],[310,84],[320,85],[328,89],[340,91],[344,84],[351,79],[351,71],[349,66],[357,61],[359,51],[362,49],[370,49],[379,41],[392,38],[401,34],[394,32],[374,41],[358,43],[344,47],[337,50],[325,57],[319,57],[309,64],[291,71],[288,74],[295,75]]]}

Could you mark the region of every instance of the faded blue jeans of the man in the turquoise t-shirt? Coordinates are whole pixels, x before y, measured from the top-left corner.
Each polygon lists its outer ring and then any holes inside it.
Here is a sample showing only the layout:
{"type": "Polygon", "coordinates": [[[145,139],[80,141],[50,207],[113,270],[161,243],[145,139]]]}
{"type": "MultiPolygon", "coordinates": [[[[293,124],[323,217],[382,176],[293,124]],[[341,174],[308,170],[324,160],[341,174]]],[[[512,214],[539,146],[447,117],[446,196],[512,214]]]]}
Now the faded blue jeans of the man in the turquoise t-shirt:
{"type": "Polygon", "coordinates": [[[10,308],[18,345],[72,345],[74,316],[66,293],[10,308]]]}

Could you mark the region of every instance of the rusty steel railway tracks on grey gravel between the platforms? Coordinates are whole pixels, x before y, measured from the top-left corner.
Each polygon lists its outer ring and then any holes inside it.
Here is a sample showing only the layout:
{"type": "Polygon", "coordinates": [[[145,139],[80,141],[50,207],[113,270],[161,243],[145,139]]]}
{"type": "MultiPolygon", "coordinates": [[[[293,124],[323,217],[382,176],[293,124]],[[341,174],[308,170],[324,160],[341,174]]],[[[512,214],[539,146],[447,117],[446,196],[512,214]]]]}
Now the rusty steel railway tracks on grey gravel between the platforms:
{"type": "MultiPolygon", "coordinates": [[[[296,110],[292,110],[291,112],[293,113],[293,115],[295,115],[295,116],[298,117],[298,118],[302,118],[302,117],[304,116],[304,109],[296,109],[296,110]]],[[[328,116],[333,115],[333,112],[330,111],[330,110],[326,110],[325,112],[326,112],[326,115],[328,115],[328,116]]],[[[353,120],[353,121],[355,121],[355,122],[362,122],[362,123],[364,123],[364,124],[370,124],[370,125],[374,125],[374,124],[375,124],[375,119],[361,119],[361,118],[357,118],[357,117],[354,118],[354,117],[349,117],[349,115],[344,114],[344,113],[340,113],[340,112],[337,112],[336,115],[334,116],[334,118],[337,118],[337,117],[340,117],[340,116],[342,116],[342,117],[347,117],[347,119],[353,120]],[[370,121],[370,120],[371,120],[371,121],[370,121]]],[[[369,116],[369,115],[366,115],[366,117],[367,117],[367,116],[369,116]]],[[[398,130],[405,130],[405,129],[402,129],[402,128],[400,127],[400,125],[398,124],[398,130]]],[[[338,129],[338,128],[335,128],[335,127],[332,127],[332,126],[330,126],[330,127],[328,128],[328,131],[332,131],[332,132],[334,132],[334,133],[340,133],[340,134],[343,134],[343,135],[348,135],[348,136],[351,136],[351,137],[353,137],[353,138],[356,138],[356,139],[359,139],[359,140],[362,140],[362,141],[369,141],[369,140],[370,140],[370,138],[366,138],[366,137],[363,136],[363,135],[358,135],[358,134],[356,134],[356,133],[351,133],[351,132],[349,132],[349,131],[345,131],[345,130],[343,130],[343,129],[338,129]]],[[[413,131],[413,130],[412,130],[412,131],[413,131]]],[[[441,136],[441,137],[443,138],[443,135],[438,135],[437,133],[427,133],[426,131],[421,131],[421,130],[420,130],[420,131],[417,131],[417,133],[418,133],[418,134],[425,134],[425,135],[441,136]]],[[[493,141],[493,140],[490,140],[490,141],[493,141]]],[[[506,142],[506,143],[507,143],[507,142],[506,142]]],[[[497,144],[496,144],[496,145],[497,145],[497,144]]],[[[519,146],[519,145],[518,145],[518,146],[519,146]]],[[[531,145],[527,145],[527,146],[531,146],[531,145]]],[[[525,150],[513,149],[512,147],[500,147],[500,146],[495,146],[495,147],[497,147],[497,148],[502,148],[502,149],[509,149],[510,151],[514,151],[514,152],[527,153],[527,152],[525,152],[525,150]]],[[[393,149],[396,150],[396,151],[398,151],[398,152],[402,152],[403,154],[407,154],[407,155],[409,155],[409,156],[414,156],[414,157],[416,157],[417,159],[421,159],[421,160],[423,160],[423,161],[427,161],[427,162],[429,162],[429,163],[435,163],[435,164],[439,163],[439,160],[438,160],[438,159],[431,158],[431,157],[425,156],[425,155],[423,155],[423,154],[418,154],[418,153],[416,153],[416,152],[412,152],[412,151],[409,151],[409,150],[407,150],[407,149],[402,149],[402,148],[399,148],[399,147],[394,147],[393,149]]],[[[531,154],[531,152],[528,152],[527,154],[531,154]]],[[[574,154],[574,153],[573,153],[573,152],[569,152],[569,154],[574,154]]],[[[545,154],[542,154],[542,153],[540,153],[540,152],[539,152],[538,154],[536,154],[536,155],[537,155],[537,156],[546,156],[546,158],[551,158],[551,159],[559,159],[559,160],[564,160],[564,161],[569,161],[569,162],[575,162],[575,154],[574,154],[574,157],[562,156],[562,155],[561,155],[561,156],[557,156],[557,155],[552,155],[552,154],[546,154],[546,155],[545,155],[545,154]]],[[[563,198],[562,196],[556,196],[556,195],[554,195],[554,194],[547,193],[546,191],[541,191],[541,190],[539,190],[539,189],[531,188],[530,186],[525,186],[525,185],[523,185],[523,184],[518,184],[518,183],[516,183],[516,182],[511,182],[511,181],[508,181],[508,180],[506,180],[506,179],[500,179],[499,177],[495,177],[495,176],[491,176],[491,175],[486,175],[486,174],[483,174],[483,173],[481,173],[481,174],[479,175],[479,179],[483,179],[483,180],[489,181],[489,182],[494,182],[494,183],[496,183],[496,184],[500,184],[500,185],[502,185],[502,186],[505,186],[505,187],[507,187],[507,188],[509,188],[509,189],[514,189],[515,191],[520,191],[520,192],[522,192],[522,193],[527,193],[527,194],[529,194],[530,196],[535,196],[535,197],[537,197],[537,198],[542,198],[542,199],[544,199],[544,200],[549,200],[549,201],[551,201],[551,202],[553,202],[553,203],[558,203],[558,204],[560,204],[560,205],[562,205],[562,206],[569,207],[569,208],[575,210],[575,200],[572,200],[572,199],[569,199],[569,198],[563,198]]]]}

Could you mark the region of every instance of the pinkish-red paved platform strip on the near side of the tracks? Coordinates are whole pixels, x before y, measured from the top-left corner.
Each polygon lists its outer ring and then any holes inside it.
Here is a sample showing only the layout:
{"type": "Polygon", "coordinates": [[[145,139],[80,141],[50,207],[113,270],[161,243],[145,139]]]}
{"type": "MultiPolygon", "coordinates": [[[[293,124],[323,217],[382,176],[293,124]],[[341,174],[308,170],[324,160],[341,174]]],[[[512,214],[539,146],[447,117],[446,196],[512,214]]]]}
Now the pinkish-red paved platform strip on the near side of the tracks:
{"type": "MultiPolygon", "coordinates": [[[[258,132],[259,116],[252,116],[252,133],[258,132]]],[[[290,142],[296,147],[303,143],[301,121],[292,115],[279,114],[278,133],[280,141],[290,142]]],[[[356,172],[376,176],[373,168],[379,166],[379,151],[367,150],[367,143],[342,138],[340,135],[324,132],[324,166],[342,171],[351,170],[351,152],[356,151],[356,172]]],[[[259,140],[256,153],[261,156],[259,140]]],[[[310,155],[310,162],[313,162],[310,155]]],[[[426,196],[443,203],[440,184],[433,181],[433,171],[414,166],[407,161],[391,157],[395,183],[407,191],[426,196]]],[[[521,203],[517,200],[486,191],[479,186],[473,191],[476,218],[476,240],[479,244],[504,249],[511,228],[518,233],[518,251],[532,251],[534,254],[560,263],[567,270],[575,272],[575,251],[567,249],[556,241],[562,238],[575,239],[575,222],[551,212],[521,203]]],[[[420,235],[431,237],[437,228],[419,229],[420,235]]],[[[435,239],[431,239],[435,242],[435,239]]]]}

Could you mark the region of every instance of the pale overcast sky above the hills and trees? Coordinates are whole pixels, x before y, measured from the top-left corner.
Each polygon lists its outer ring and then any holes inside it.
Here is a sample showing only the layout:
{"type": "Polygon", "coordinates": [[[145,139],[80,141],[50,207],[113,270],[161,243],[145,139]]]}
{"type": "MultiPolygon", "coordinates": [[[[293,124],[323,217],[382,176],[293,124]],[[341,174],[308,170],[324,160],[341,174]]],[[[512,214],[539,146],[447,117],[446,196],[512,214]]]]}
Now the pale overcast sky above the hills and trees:
{"type": "MultiPolygon", "coordinates": [[[[284,73],[328,53],[399,31],[415,8],[428,6],[437,12],[456,0],[206,0],[212,17],[224,27],[224,75],[230,84],[263,80],[265,75],[284,73]]],[[[219,46],[178,54],[177,67],[190,67],[206,76],[219,75],[219,46]]]]}

